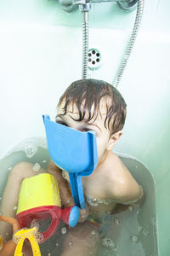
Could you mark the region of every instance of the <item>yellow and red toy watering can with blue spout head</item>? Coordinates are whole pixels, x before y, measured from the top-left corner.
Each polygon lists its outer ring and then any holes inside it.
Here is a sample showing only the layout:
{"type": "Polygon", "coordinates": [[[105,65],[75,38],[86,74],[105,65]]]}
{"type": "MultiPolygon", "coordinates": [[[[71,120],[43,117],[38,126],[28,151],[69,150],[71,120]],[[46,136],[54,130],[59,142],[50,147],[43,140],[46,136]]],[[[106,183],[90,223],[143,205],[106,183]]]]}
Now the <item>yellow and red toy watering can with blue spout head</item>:
{"type": "Polygon", "coordinates": [[[39,232],[38,242],[46,241],[59,226],[60,219],[74,227],[79,218],[78,207],[61,209],[58,183],[53,175],[42,173],[27,177],[20,188],[19,203],[16,212],[20,227],[29,227],[35,219],[51,219],[48,230],[39,232]]]}

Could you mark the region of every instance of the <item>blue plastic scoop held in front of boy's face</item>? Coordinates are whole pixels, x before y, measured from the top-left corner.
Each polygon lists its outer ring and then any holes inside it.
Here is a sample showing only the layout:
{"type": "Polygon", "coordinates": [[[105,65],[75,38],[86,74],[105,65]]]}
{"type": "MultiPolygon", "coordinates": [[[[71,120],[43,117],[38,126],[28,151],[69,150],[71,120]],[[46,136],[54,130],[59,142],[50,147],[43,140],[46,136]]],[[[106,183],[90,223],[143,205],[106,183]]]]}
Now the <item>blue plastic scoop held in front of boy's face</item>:
{"type": "Polygon", "coordinates": [[[82,176],[89,176],[98,164],[95,132],[59,125],[48,115],[42,115],[42,118],[50,157],[60,169],[69,173],[72,197],[75,204],[84,209],[82,176]]]}

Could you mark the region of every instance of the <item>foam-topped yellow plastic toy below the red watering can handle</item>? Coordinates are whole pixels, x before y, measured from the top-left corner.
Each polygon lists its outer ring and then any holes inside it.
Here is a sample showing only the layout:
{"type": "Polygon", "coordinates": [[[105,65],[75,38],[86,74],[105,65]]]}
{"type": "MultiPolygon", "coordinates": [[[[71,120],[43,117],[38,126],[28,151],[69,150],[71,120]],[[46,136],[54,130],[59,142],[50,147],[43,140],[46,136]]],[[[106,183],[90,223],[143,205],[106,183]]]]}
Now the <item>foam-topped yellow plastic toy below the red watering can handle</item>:
{"type": "Polygon", "coordinates": [[[37,236],[37,227],[34,227],[32,229],[19,230],[18,232],[16,232],[13,236],[14,242],[17,243],[16,249],[14,251],[14,256],[23,255],[22,247],[26,239],[30,241],[33,256],[41,256],[41,252],[37,243],[36,236],[37,236]]]}

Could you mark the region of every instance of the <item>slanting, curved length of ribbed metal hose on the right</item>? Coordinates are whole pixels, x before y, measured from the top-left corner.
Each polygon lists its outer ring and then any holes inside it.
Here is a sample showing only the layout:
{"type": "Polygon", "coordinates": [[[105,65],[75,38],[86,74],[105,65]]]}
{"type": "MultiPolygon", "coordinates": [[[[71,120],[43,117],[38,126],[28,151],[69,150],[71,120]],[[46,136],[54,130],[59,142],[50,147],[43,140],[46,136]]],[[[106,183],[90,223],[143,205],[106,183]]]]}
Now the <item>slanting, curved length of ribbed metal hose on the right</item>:
{"type": "Polygon", "coordinates": [[[139,26],[140,26],[140,23],[142,20],[143,11],[144,11],[144,0],[138,0],[137,13],[136,13],[136,19],[134,22],[134,26],[133,26],[133,32],[132,32],[130,40],[127,44],[127,49],[125,50],[125,53],[122,57],[122,63],[118,69],[118,72],[116,73],[116,78],[113,83],[113,85],[115,87],[118,86],[120,80],[122,79],[122,74],[124,72],[124,69],[127,66],[128,58],[131,55],[133,45],[135,43],[135,40],[136,40],[138,32],[139,32],[139,26]]]}

